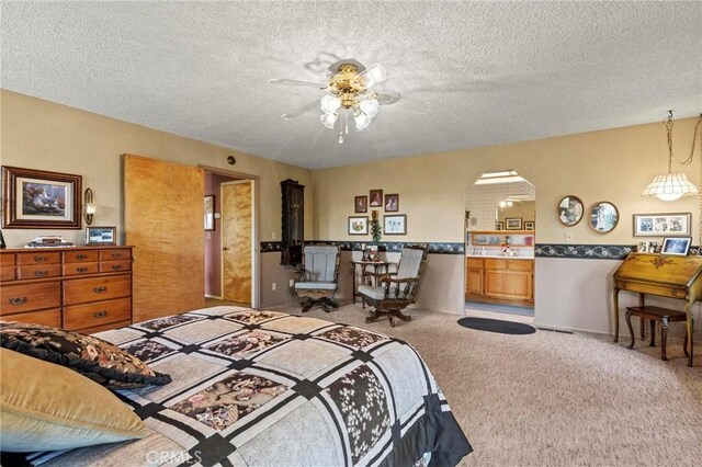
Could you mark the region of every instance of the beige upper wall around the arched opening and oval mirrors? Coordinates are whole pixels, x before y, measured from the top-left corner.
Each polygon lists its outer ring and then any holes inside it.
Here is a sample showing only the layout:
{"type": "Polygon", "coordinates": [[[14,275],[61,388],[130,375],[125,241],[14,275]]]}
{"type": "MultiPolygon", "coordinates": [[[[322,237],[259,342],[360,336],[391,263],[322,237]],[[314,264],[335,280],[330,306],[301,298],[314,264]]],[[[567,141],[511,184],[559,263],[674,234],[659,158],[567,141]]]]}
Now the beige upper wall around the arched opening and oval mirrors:
{"type": "MultiPolygon", "coordinates": [[[[688,156],[695,119],[677,121],[673,138],[679,158],[688,156]],[[687,152],[687,153],[686,153],[687,152]]],[[[634,244],[634,213],[693,213],[698,238],[699,200],[666,203],[643,198],[653,176],[667,170],[666,133],[661,123],[562,136],[512,145],[389,159],[380,162],[315,171],[315,231],[319,238],[362,240],[346,231],[353,215],[353,196],[382,187],[400,194],[400,214],[407,214],[408,235],[394,241],[460,242],[464,229],[464,194],[483,172],[514,169],[537,193],[537,242],[563,243],[565,232],[576,243],[634,244]],[[564,227],[555,216],[558,201],[574,194],[589,209],[609,201],[620,212],[619,226],[608,235],[592,231],[584,220],[564,227]]],[[[700,157],[684,171],[699,183],[700,157]]],[[[386,239],[389,240],[389,239],[386,239]]]]}

